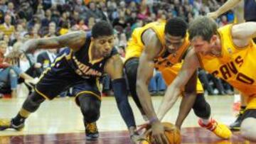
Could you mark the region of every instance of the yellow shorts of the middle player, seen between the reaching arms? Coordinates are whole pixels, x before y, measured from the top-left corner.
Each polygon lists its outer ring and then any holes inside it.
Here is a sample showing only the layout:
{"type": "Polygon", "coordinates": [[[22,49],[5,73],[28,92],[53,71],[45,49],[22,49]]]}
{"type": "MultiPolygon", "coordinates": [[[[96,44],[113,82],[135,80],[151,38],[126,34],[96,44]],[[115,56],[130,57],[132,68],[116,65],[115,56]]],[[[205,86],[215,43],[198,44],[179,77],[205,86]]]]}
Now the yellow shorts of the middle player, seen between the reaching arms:
{"type": "MultiPolygon", "coordinates": [[[[178,75],[178,71],[181,70],[181,65],[181,63],[178,63],[176,65],[173,65],[172,67],[166,67],[160,70],[167,85],[171,84],[171,82],[174,81],[174,79],[178,75]]],[[[199,79],[197,79],[196,92],[198,94],[203,93],[203,86],[199,79]]]]}

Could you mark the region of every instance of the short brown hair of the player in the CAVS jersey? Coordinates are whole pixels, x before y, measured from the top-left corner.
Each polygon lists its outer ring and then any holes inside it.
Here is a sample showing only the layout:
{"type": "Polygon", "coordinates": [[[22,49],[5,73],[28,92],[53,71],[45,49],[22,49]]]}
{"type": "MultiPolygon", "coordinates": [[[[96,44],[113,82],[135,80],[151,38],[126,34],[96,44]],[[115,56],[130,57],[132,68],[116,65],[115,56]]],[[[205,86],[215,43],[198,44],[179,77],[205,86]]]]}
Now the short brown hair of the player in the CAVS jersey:
{"type": "Polygon", "coordinates": [[[189,40],[201,36],[203,40],[210,41],[210,38],[217,34],[217,32],[217,23],[207,16],[199,16],[191,22],[188,28],[189,40]]]}

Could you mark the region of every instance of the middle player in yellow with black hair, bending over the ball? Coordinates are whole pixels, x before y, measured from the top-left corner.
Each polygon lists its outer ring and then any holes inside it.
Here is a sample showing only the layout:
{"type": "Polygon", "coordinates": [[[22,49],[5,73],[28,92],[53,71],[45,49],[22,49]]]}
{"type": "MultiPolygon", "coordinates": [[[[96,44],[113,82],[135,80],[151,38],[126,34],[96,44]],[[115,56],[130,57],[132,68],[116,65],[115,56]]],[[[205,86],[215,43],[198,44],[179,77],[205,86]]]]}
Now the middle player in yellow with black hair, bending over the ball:
{"type": "MultiPolygon", "coordinates": [[[[160,121],[154,113],[147,83],[156,68],[162,72],[166,84],[171,84],[181,68],[181,60],[186,57],[190,45],[186,29],[187,24],[181,18],[172,18],[167,23],[149,23],[142,28],[136,28],[128,43],[124,67],[129,87],[137,106],[141,111],[143,109],[149,118],[156,143],[162,143],[158,137],[165,137],[164,132],[156,133],[156,131],[164,128],[155,124],[160,121]]],[[[201,126],[206,127],[202,123],[206,121],[207,128],[220,138],[230,138],[231,132],[226,126],[210,119],[210,105],[204,99],[201,83],[198,82],[196,86],[196,81],[195,72],[184,90],[176,126],[181,128],[183,120],[193,107],[196,116],[201,118],[201,126]]]]}

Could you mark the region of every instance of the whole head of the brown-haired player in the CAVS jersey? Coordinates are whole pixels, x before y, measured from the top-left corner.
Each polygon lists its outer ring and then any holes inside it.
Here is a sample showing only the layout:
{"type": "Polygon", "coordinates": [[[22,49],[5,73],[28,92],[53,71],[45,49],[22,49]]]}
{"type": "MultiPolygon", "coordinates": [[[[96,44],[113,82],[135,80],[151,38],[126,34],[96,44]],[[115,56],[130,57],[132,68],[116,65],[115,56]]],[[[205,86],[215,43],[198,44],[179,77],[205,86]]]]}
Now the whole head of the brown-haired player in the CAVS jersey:
{"type": "Polygon", "coordinates": [[[218,26],[212,18],[200,16],[191,22],[188,33],[191,45],[203,55],[209,55],[218,39],[218,26]]]}

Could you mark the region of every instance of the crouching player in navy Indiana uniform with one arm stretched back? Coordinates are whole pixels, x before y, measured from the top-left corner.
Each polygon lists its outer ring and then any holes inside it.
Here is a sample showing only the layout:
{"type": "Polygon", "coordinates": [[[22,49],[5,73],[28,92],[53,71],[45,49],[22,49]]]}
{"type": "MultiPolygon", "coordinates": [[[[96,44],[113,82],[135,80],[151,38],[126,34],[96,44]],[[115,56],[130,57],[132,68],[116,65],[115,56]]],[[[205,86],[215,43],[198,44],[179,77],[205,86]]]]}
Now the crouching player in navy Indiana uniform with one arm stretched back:
{"type": "MultiPolygon", "coordinates": [[[[123,63],[113,48],[112,26],[106,21],[95,23],[92,33],[78,31],[54,38],[28,40],[21,47],[24,52],[36,49],[68,47],[55,60],[55,64],[44,72],[35,92],[28,96],[21,110],[11,120],[0,120],[0,130],[24,126],[26,118],[38,109],[46,99],[54,99],[68,87],[75,86],[75,102],[84,116],[87,140],[95,140],[99,134],[96,121],[100,117],[101,96],[98,78],[105,72],[110,74],[114,96],[122,118],[130,127],[134,122],[132,109],[127,100],[126,83],[122,77],[123,63]]],[[[131,132],[132,133],[132,132],[131,132]]]]}

